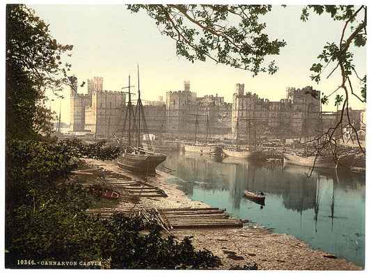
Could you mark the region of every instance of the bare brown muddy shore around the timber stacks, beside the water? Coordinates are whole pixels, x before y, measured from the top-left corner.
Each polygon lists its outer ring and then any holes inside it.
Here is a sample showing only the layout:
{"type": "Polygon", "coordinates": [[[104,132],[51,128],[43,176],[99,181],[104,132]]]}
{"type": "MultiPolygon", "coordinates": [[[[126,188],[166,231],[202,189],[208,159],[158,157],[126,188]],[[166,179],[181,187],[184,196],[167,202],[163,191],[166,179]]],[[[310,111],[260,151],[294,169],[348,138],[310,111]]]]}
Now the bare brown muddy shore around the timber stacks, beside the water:
{"type": "MultiPolygon", "coordinates": [[[[111,173],[118,173],[132,180],[143,180],[118,166],[104,161],[86,159],[88,166],[100,166],[111,173]]],[[[148,177],[147,182],[162,189],[166,198],[140,198],[139,203],[120,203],[118,208],[144,207],[210,207],[205,203],[191,200],[175,184],[167,184],[166,179],[174,178],[157,171],[156,177],[148,177]]],[[[221,258],[217,269],[262,269],[262,270],[364,270],[352,262],[336,258],[331,253],[313,250],[299,239],[286,234],[269,232],[261,226],[243,228],[194,228],[172,229],[171,234],[182,239],[191,236],[196,248],[207,248],[221,258]]]]}

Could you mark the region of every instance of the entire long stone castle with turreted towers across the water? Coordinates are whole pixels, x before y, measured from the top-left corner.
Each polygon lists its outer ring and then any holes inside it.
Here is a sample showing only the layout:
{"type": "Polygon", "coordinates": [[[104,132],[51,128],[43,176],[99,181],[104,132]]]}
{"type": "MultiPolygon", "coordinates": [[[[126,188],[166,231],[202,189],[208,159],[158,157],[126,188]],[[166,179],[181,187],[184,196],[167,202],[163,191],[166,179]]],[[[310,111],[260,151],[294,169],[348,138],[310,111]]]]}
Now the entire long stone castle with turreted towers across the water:
{"type": "MultiPolygon", "coordinates": [[[[168,139],[292,139],[315,136],[331,125],[334,114],[324,115],[320,92],[307,86],[287,88],[278,102],[244,91],[237,84],[233,102],[224,97],[197,97],[189,81],[184,90],[166,92],[166,101],[148,101],[144,105],[147,132],[168,139]]],[[[125,93],[103,90],[103,78],[88,80],[88,94],[77,93],[77,79],[71,90],[70,132],[107,138],[123,123],[125,93]]]]}

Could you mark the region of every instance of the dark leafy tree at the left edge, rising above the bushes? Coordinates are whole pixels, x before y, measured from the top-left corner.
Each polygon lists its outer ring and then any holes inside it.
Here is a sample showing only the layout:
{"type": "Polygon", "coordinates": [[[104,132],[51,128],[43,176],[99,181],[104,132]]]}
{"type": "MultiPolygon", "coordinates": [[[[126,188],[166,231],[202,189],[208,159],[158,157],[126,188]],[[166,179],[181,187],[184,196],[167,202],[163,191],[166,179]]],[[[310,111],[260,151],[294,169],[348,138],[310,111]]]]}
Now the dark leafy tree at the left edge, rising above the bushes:
{"type": "Polygon", "coordinates": [[[58,95],[69,84],[71,65],[49,26],[24,5],[6,6],[6,135],[30,137],[47,132],[52,113],[43,104],[45,90],[58,95]]]}

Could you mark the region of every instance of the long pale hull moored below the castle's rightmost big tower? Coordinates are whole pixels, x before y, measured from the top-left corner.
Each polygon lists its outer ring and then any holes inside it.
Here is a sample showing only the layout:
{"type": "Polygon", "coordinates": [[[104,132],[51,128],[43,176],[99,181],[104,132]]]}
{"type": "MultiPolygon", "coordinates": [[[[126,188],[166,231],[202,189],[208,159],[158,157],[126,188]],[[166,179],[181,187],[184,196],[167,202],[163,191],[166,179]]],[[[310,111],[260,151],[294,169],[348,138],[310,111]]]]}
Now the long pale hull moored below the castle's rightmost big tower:
{"type": "Polygon", "coordinates": [[[283,163],[294,164],[297,166],[313,166],[318,168],[335,168],[336,164],[333,162],[333,157],[301,157],[298,155],[292,155],[283,153],[283,163]]]}

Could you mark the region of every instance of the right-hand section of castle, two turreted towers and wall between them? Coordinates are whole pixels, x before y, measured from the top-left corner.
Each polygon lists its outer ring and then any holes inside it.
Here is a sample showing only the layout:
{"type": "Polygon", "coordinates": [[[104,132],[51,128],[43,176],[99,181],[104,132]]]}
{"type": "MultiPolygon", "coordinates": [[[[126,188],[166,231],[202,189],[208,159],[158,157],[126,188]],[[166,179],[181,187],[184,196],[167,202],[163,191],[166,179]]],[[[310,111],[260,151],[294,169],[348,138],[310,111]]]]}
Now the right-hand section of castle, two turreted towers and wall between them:
{"type": "Polygon", "coordinates": [[[236,85],[232,104],[234,139],[300,138],[318,134],[321,106],[319,91],[307,86],[287,88],[286,99],[270,102],[255,93],[244,93],[244,84],[236,85]]]}

